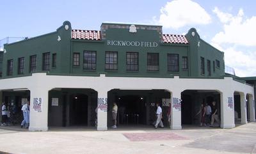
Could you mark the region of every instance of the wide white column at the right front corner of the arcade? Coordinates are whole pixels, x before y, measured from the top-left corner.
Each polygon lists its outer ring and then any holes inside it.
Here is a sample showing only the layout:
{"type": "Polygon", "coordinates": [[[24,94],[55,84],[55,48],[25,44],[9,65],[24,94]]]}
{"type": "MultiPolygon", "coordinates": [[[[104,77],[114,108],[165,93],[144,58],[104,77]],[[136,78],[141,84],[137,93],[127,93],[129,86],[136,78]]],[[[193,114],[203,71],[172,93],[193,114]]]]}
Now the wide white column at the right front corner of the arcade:
{"type": "MultiPolygon", "coordinates": [[[[223,129],[235,127],[234,92],[224,91],[220,94],[221,123],[223,129]]],[[[220,115],[219,115],[220,116],[220,115]]]]}

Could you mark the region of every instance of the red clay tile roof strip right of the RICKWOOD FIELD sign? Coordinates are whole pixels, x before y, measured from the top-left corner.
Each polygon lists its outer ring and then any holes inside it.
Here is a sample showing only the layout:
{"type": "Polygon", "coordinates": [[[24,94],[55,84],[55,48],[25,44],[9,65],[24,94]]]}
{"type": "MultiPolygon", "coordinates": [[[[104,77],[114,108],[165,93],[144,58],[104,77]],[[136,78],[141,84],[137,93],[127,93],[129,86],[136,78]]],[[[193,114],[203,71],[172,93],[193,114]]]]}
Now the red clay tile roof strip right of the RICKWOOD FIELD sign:
{"type": "Polygon", "coordinates": [[[179,43],[188,44],[188,39],[184,35],[173,35],[173,34],[163,34],[164,43],[179,43]]]}

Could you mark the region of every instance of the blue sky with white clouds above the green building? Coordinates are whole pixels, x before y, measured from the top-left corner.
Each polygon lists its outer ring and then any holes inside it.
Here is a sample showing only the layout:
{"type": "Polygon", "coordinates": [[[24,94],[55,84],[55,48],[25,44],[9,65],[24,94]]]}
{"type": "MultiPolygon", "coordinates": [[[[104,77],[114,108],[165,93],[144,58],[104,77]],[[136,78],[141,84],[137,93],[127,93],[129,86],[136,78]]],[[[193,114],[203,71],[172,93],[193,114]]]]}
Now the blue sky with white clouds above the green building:
{"type": "Polygon", "coordinates": [[[86,30],[100,30],[102,22],[163,25],[164,34],[195,27],[237,76],[256,76],[255,0],[2,0],[0,8],[0,40],[53,32],[65,20],[86,30]]]}

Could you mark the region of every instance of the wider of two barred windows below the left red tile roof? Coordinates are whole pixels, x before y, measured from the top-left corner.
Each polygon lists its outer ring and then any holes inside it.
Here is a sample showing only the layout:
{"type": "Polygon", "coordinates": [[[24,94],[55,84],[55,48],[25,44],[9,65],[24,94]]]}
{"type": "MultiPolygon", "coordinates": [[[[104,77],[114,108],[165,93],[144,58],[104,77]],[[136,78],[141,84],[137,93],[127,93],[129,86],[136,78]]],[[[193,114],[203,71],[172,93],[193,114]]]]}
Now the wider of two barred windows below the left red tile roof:
{"type": "Polygon", "coordinates": [[[96,69],[96,52],[84,52],[84,69],[96,69]]]}

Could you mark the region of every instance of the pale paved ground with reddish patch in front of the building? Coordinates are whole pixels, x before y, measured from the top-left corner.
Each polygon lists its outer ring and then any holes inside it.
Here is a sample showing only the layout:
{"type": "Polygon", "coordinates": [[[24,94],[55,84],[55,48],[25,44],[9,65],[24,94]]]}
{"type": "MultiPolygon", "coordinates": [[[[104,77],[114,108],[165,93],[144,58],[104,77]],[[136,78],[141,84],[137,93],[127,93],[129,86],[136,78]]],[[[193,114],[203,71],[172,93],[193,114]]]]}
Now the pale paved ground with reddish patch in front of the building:
{"type": "MultiPolygon", "coordinates": [[[[2,127],[3,128],[3,127],[2,127]]],[[[53,128],[28,132],[0,128],[0,151],[8,153],[256,153],[256,123],[234,129],[118,128],[108,131],[53,128]]]]}

